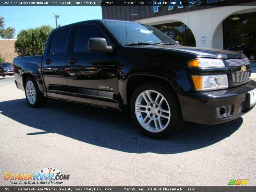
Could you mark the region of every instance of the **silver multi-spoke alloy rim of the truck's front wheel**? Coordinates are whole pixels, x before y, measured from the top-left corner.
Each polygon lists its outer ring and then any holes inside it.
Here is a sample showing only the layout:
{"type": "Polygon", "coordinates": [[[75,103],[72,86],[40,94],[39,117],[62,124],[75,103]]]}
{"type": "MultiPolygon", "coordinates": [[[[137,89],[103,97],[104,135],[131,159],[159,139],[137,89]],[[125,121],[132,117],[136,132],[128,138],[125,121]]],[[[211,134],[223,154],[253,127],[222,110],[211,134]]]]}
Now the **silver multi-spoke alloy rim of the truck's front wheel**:
{"type": "Polygon", "coordinates": [[[145,90],[136,99],[135,114],[141,126],[152,133],[163,131],[170,122],[170,106],[161,93],[145,90]]]}

